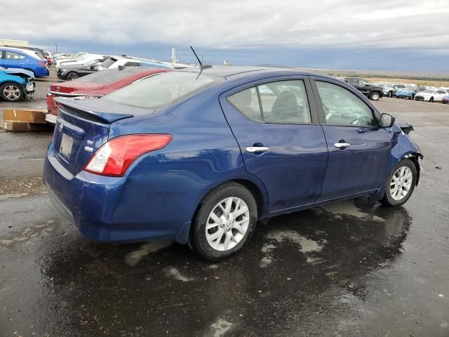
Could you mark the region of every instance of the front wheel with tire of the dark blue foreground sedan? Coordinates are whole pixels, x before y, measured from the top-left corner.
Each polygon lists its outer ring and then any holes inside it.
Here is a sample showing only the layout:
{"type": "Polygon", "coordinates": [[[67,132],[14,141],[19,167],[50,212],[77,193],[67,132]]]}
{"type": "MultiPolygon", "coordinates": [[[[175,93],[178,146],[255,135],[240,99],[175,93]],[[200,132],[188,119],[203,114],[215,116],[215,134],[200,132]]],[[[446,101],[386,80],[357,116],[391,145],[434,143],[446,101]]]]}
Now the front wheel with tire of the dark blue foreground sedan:
{"type": "Polygon", "coordinates": [[[405,204],[415,190],[417,179],[416,166],[410,159],[402,159],[394,166],[385,187],[384,197],[380,202],[385,206],[405,204]]]}

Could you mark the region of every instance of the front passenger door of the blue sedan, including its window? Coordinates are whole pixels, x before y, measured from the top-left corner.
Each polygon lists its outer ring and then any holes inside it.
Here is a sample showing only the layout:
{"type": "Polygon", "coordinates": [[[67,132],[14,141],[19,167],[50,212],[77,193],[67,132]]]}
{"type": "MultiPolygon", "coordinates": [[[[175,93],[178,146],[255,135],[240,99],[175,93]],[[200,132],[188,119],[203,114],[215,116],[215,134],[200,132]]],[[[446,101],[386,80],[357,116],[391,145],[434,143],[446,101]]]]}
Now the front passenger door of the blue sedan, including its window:
{"type": "Polygon", "coordinates": [[[391,134],[377,126],[375,111],[339,81],[312,77],[329,149],[320,200],[375,190],[387,176],[391,134]]]}

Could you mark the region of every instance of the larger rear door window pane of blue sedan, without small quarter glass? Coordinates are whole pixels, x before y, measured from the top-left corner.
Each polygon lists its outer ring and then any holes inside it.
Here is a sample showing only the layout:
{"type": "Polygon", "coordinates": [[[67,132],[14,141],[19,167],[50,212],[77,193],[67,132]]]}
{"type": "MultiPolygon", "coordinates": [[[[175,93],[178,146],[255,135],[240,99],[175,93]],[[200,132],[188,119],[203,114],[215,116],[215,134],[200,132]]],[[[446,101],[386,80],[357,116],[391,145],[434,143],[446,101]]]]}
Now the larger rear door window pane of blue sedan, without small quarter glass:
{"type": "Polygon", "coordinates": [[[264,121],[311,123],[304,81],[276,81],[259,86],[258,89],[264,121]]]}

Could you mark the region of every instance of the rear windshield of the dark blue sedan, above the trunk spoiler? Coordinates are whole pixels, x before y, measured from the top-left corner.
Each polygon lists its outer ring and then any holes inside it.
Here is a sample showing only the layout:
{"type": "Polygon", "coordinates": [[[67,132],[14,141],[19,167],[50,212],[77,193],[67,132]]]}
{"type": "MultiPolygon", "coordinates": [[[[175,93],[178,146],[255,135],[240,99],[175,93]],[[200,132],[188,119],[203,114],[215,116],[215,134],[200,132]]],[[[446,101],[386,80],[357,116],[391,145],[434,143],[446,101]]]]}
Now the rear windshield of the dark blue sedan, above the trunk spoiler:
{"type": "Polygon", "coordinates": [[[166,72],[105,95],[103,100],[135,107],[161,107],[183,100],[223,79],[196,72],[166,72]]]}

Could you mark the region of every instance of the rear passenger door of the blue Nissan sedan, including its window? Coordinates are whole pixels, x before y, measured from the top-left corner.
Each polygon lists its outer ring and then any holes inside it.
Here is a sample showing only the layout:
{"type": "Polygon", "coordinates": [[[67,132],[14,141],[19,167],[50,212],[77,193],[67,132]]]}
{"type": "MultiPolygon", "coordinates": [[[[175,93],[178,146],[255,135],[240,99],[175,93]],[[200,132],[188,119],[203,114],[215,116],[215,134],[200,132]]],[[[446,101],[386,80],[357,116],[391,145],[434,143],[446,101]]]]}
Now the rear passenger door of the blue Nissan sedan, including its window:
{"type": "Polygon", "coordinates": [[[314,202],[321,193],[328,148],[307,77],[276,77],[220,95],[246,170],[262,180],[269,211],[314,202]]]}

